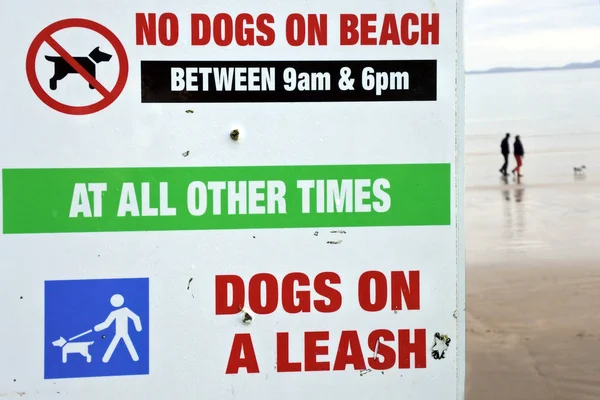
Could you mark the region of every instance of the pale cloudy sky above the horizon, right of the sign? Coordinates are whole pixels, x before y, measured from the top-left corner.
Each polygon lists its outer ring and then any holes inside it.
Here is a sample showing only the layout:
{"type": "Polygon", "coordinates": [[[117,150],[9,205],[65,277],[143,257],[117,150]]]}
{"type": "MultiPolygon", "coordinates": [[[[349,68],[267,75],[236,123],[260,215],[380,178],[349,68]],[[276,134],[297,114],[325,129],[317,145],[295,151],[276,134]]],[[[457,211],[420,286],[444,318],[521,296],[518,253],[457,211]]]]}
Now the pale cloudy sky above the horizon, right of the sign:
{"type": "Polygon", "coordinates": [[[600,59],[600,0],[465,0],[465,67],[600,59]]]}

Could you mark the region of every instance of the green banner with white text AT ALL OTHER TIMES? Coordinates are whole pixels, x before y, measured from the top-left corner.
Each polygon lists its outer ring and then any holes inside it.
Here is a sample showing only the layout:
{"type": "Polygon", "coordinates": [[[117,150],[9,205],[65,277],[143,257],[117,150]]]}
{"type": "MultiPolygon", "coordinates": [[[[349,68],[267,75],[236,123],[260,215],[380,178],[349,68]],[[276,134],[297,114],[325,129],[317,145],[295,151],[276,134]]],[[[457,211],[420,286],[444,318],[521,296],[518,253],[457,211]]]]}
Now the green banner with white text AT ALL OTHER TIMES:
{"type": "Polygon", "coordinates": [[[450,164],[2,170],[3,232],[450,224],[450,164]]]}

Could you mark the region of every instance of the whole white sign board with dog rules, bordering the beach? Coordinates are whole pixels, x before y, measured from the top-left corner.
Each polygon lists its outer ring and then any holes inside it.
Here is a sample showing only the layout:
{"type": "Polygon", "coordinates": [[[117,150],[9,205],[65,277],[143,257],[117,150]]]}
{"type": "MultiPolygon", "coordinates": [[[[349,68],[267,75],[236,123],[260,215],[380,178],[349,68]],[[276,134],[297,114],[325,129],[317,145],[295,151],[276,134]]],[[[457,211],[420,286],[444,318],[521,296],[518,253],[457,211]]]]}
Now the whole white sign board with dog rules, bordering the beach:
{"type": "Polygon", "coordinates": [[[461,7],[4,4],[0,397],[464,398],[461,7]]]}

